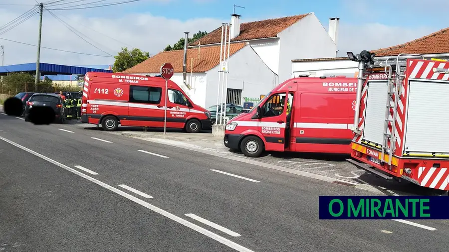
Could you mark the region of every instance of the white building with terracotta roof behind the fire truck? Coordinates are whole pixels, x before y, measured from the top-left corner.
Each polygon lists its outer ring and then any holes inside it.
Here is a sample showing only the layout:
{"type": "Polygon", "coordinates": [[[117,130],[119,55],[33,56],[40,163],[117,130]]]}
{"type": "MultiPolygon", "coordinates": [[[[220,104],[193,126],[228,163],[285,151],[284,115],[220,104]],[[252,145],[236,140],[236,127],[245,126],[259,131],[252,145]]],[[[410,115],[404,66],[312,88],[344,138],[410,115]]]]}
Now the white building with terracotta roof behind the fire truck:
{"type": "MultiPolygon", "coordinates": [[[[376,58],[386,59],[388,56],[397,56],[400,53],[421,54],[426,59],[449,60],[449,28],[418,38],[408,43],[373,50],[376,58]]],[[[358,54],[360,52],[353,52],[358,54]]],[[[358,63],[348,57],[314,58],[291,60],[291,74],[293,77],[309,75],[310,77],[347,76],[357,77],[358,63]]]]}

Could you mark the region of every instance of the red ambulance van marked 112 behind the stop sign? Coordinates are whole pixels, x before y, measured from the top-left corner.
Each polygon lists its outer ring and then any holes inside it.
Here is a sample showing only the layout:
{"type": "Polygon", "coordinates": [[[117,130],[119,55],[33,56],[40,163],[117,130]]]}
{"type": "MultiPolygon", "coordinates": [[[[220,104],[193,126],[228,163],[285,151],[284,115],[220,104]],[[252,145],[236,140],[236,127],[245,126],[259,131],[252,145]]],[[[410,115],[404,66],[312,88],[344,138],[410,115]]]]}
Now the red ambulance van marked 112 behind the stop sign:
{"type": "Polygon", "coordinates": [[[187,132],[211,129],[211,114],[195,105],[173,81],[161,77],[88,72],[84,77],[81,122],[101,124],[104,130],[122,126],[164,127],[165,95],[167,127],[187,132]]]}

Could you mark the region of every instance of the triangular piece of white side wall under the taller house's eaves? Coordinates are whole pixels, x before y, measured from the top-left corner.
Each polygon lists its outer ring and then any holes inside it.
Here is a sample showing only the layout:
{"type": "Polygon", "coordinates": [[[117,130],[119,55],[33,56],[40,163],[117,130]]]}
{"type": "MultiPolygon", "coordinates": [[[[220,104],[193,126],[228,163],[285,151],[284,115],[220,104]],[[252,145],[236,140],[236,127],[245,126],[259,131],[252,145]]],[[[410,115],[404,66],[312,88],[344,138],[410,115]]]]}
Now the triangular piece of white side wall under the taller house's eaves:
{"type": "Polygon", "coordinates": [[[252,49],[275,74],[279,71],[279,38],[249,41],[252,49]]]}

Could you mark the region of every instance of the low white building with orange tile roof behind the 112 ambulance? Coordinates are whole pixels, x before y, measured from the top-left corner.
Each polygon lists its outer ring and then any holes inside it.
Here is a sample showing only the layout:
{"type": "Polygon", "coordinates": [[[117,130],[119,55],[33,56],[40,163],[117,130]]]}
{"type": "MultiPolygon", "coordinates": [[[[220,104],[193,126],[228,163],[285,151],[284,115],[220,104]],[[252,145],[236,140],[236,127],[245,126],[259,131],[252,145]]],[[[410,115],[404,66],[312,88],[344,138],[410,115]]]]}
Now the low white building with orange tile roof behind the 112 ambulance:
{"type": "MultiPolygon", "coordinates": [[[[227,49],[226,49],[227,50],[227,49]]],[[[244,97],[266,95],[277,83],[277,75],[260,59],[248,43],[231,43],[229,48],[227,103],[243,104],[244,97]]],[[[171,78],[193,100],[204,108],[217,105],[220,45],[187,50],[187,83],[183,78],[184,50],[161,52],[122,73],[158,75],[163,63],[171,63],[171,78]]]]}

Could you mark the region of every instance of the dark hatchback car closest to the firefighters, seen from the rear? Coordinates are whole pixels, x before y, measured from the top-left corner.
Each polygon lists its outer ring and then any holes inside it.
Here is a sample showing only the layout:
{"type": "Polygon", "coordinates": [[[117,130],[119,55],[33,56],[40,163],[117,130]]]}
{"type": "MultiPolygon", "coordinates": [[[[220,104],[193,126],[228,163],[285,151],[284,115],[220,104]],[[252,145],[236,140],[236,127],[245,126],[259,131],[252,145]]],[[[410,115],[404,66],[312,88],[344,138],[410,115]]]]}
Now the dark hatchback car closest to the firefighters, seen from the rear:
{"type": "Polygon", "coordinates": [[[29,100],[26,102],[25,106],[25,121],[29,122],[29,112],[36,106],[47,106],[54,110],[55,120],[62,124],[65,119],[65,110],[61,97],[56,94],[51,93],[35,93],[32,95],[29,100]]]}

